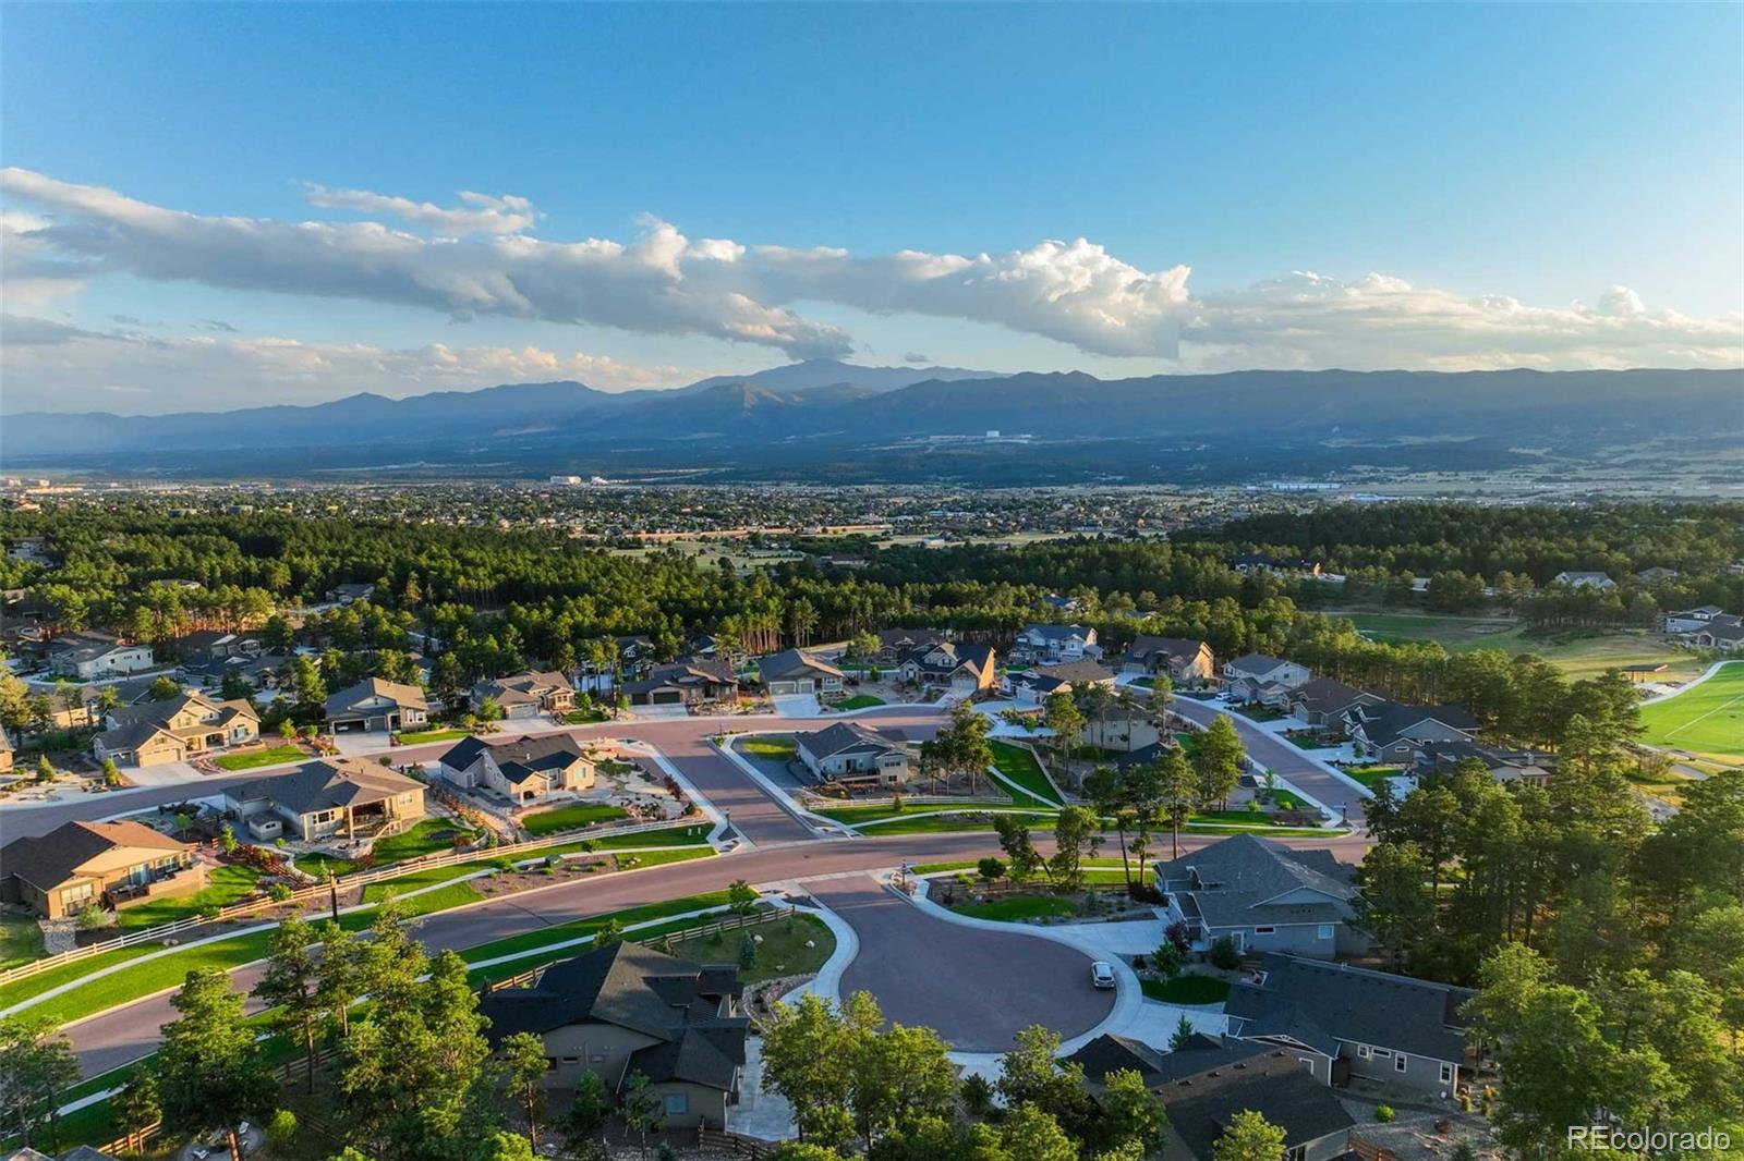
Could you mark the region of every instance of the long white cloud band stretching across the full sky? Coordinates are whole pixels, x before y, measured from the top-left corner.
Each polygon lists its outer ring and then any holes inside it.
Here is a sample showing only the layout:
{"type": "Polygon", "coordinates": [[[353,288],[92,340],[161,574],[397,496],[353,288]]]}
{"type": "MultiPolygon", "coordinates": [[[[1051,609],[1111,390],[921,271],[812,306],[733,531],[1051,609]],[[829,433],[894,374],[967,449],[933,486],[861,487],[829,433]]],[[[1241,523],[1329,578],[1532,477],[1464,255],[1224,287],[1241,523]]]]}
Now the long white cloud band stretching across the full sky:
{"type": "MultiPolygon", "coordinates": [[[[9,216],[7,279],[35,303],[105,272],[290,295],[368,300],[846,356],[849,335],[807,319],[804,303],[881,316],[931,316],[1046,336],[1092,356],[1228,366],[1735,366],[1744,316],[1650,309],[1622,286],[1594,305],[1533,307],[1505,293],[1454,295],[1367,274],[1291,274],[1195,296],[1189,268],[1148,272],[1078,239],[1006,253],[856,256],[691,239],[642,221],[630,241],[534,237],[527,199],[462,194],[460,206],[317,188],[310,200],[391,216],[279,221],[202,216],[26,169],[0,190],[37,207],[9,216]]],[[[1066,363],[1060,359],[1059,363],[1066,363]]]]}

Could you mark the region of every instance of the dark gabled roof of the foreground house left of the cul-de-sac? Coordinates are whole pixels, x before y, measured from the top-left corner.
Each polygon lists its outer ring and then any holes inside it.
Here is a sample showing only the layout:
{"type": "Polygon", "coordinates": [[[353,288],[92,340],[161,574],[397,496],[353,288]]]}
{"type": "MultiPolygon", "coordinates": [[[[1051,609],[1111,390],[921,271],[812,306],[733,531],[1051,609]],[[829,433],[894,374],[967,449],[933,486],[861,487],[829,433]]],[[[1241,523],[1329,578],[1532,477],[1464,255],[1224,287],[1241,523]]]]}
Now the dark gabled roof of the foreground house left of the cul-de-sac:
{"type": "Polygon", "coordinates": [[[623,941],[553,964],[532,987],[487,992],[478,1008],[497,1044],[514,1032],[610,1023],[659,1041],[631,1053],[631,1067],[651,1081],[731,1088],[745,1062],[748,1022],[719,1009],[722,997],[741,990],[731,966],[699,966],[623,941]]]}

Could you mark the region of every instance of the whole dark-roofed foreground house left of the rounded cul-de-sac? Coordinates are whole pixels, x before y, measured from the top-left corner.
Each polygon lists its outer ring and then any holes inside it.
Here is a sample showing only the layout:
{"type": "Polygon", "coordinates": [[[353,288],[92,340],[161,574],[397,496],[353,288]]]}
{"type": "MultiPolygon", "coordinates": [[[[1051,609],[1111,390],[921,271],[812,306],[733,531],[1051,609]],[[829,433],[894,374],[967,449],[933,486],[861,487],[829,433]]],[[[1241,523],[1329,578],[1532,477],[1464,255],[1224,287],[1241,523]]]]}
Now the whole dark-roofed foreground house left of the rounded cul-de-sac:
{"type": "Polygon", "coordinates": [[[623,1093],[640,1074],[668,1130],[722,1130],[745,1065],[741,994],[731,964],[621,941],[551,964],[528,987],[488,990],[478,1009],[495,1046],[518,1032],[541,1039],[551,1090],[593,1072],[623,1093]]]}

